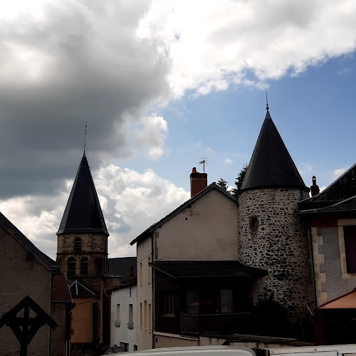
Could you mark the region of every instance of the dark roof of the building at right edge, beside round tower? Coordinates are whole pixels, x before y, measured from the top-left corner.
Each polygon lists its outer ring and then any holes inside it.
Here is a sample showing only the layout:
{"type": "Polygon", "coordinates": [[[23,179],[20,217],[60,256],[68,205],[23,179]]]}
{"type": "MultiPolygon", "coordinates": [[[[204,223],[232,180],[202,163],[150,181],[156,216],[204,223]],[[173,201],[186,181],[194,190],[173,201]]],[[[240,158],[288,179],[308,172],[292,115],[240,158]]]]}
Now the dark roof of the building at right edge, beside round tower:
{"type": "MultiPolygon", "coordinates": [[[[311,209],[326,208],[327,206],[335,206],[335,204],[345,201],[342,204],[343,208],[347,206],[350,209],[355,209],[355,201],[353,198],[356,196],[356,164],[342,174],[335,180],[329,187],[325,188],[323,192],[316,194],[314,197],[300,201],[298,204],[299,211],[306,211],[311,209]]],[[[341,205],[335,206],[340,208],[341,205]]]]}

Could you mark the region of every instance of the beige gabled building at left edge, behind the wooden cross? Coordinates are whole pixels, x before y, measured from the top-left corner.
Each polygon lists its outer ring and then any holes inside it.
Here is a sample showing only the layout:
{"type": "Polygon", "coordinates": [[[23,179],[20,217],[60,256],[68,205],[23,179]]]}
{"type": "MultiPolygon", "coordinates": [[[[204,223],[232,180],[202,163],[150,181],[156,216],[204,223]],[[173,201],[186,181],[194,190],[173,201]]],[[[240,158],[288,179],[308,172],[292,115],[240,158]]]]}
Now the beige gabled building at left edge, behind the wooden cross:
{"type": "MultiPolygon", "coordinates": [[[[1,213],[0,244],[0,316],[31,298],[54,320],[56,329],[43,325],[28,345],[28,356],[66,355],[72,308],[66,276],[1,213]]],[[[6,325],[0,328],[0,339],[0,355],[19,355],[19,340],[6,325]]]]}

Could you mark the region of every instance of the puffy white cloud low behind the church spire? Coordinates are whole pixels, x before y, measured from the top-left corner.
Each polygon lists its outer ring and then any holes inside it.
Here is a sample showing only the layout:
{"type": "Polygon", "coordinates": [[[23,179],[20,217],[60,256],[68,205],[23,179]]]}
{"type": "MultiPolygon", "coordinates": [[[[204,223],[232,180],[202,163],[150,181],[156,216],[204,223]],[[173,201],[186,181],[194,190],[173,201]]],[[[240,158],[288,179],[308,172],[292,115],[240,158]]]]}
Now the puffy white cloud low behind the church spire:
{"type": "MultiPolygon", "coordinates": [[[[130,241],[162,219],[190,193],[159,177],[152,169],[143,173],[115,165],[93,172],[95,187],[110,233],[110,257],[135,256],[130,241]]],[[[51,196],[24,196],[0,200],[0,211],[41,251],[56,259],[56,232],[73,180],[61,184],[51,196]]]]}

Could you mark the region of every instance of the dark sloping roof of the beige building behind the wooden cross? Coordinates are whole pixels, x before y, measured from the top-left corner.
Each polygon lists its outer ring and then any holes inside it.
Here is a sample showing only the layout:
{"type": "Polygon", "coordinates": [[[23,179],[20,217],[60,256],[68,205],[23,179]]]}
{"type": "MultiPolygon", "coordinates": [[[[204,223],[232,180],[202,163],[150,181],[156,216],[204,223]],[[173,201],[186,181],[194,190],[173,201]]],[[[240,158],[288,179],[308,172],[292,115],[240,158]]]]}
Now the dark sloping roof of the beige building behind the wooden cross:
{"type": "Polygon", "coordinates": [[[22,234],[22,232],[17,229],[17,227],[9,221],[3,214],[0,213],[0,226],[3,227],[8,233],[21,244],[25,248],[28,249],[28,251],[31,251],[34,253],[36,256],[38,256],[38,259],[43,262],[43,264],[48,268],[48,269],[53,269],[53,268],[59,268],[58,264],[53,261],[51,257],[48,257],[45,253],[40,251],[35,245],[32,244],[30,240],[27,239],[25,235],[22,234]]]}

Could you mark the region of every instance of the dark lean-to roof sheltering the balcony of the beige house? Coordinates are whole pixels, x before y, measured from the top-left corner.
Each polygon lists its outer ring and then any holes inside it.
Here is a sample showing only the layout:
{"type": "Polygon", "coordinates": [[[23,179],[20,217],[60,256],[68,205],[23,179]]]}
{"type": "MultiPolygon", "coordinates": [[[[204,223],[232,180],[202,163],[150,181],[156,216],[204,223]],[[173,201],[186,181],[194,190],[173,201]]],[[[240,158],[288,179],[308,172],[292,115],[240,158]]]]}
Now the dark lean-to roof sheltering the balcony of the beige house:
{"type": "Polygon", "coordinates": [[[149,264],[173,278],[250,277],[268,273],[266,270],[246,266],[239,261],[155,261],[149,264]]]}

